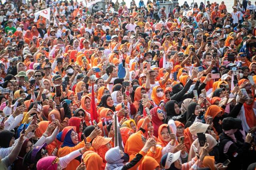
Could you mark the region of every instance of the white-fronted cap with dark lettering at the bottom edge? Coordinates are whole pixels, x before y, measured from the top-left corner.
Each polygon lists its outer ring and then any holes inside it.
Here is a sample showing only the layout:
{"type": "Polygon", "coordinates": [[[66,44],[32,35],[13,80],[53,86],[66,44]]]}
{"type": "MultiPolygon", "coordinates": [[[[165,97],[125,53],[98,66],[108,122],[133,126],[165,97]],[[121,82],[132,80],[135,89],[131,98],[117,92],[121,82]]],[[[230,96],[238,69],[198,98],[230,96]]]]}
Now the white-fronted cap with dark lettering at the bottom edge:
{"type": "Polygon", "coordinates": [[[176,153],[168,152],[167,154],[162,156],[161,164],[162,164],[162,166],[164,166],[164,169],[169,169],[171,167],[171,165],[176,160],[178,160],[178,158],[180,158],[180,152],[181,152],[181,150],[179,150],[176,153]]]}

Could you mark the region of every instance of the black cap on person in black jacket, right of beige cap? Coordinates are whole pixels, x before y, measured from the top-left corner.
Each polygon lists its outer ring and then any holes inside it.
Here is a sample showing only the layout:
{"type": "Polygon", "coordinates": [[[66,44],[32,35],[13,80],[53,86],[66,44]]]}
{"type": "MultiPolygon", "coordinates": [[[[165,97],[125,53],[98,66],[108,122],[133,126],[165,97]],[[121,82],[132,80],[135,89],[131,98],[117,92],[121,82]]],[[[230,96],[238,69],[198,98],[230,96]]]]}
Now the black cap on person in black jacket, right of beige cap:
{"type": "Polygon", "coordinates": [[[222,121],[222,129],[229,131],[230,129],[242,129],[242,121],[234,117],[226,117],[222,121]]]}

